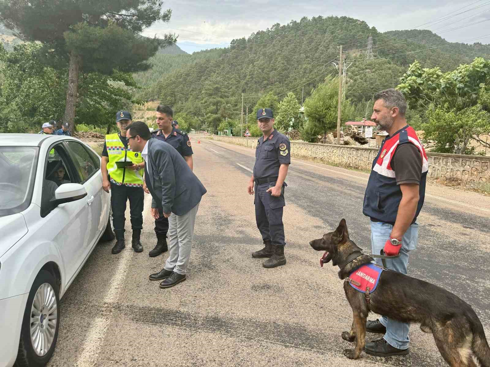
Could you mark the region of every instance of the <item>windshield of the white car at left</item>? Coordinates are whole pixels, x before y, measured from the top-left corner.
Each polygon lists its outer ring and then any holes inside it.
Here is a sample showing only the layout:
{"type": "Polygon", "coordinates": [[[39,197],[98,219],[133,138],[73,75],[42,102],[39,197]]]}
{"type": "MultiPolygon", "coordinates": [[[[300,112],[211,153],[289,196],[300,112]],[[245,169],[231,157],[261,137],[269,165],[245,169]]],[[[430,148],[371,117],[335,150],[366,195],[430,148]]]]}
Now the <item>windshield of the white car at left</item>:
{"type": "Polygon", "coordinates": [[[30,205],[38,151],[37,147],[0,147],[0,216],[30,205]]]}

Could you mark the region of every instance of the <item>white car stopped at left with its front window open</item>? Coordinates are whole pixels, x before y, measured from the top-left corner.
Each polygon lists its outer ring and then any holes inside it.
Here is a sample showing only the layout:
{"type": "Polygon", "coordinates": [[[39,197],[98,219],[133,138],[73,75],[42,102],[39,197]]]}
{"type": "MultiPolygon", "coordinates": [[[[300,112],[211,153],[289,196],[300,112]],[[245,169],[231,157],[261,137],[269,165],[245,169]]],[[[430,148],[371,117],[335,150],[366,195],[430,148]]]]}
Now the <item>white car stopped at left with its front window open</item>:
{"type": "Polygon", "coordinates": [[[100,157],[78,139],[0,134],[0,367],[44,366],[59,300],[114,238],[100,157]]]}

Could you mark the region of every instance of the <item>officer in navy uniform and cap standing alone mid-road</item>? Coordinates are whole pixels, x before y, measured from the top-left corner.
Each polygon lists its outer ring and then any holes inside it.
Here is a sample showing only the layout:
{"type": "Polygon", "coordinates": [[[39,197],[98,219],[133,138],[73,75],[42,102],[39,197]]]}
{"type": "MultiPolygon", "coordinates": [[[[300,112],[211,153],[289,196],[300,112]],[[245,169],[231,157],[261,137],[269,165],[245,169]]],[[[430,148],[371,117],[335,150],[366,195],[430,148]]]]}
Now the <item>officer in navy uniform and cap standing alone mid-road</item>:
{"type": "Polygon", "coordinates": [[[257,111],[257,124],[263,136],[257,140],[255,165],[247,189],[250,195],[255,194],[255,220],[265,247],[252,252],[252,257],[269,257],[262,266],[275,268],[286,264],[282,213],[286,205],[284,180],[291,163],[291,145],[286,136],[274,129],[271,109],[257,111]]]}

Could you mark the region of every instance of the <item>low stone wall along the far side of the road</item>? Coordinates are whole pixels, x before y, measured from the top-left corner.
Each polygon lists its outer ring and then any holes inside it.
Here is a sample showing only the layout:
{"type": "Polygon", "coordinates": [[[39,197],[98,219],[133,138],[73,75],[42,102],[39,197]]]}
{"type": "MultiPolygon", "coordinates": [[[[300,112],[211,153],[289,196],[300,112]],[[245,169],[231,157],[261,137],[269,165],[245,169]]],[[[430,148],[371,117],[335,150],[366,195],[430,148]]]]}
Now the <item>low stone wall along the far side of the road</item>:
{"type": "MultiPolygon", "coordinates": [[[[224,137],[214,140],[255,149],[257,138],[224,137]]],[[[376,148],[291,142],[291,157],[369,171],[376,148]]],[[[465,182],[490,182],[490,157],[427,152],[430,178],[457,178],[465,182]]]]}

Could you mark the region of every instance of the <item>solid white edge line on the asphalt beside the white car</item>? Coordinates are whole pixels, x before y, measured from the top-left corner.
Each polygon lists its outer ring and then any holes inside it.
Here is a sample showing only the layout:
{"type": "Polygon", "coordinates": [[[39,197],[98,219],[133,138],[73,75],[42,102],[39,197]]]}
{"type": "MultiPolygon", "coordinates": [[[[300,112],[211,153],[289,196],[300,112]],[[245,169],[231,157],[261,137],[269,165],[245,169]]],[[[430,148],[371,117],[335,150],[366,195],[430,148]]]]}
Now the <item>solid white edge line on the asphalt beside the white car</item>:
{"type": "MultiPolygon", "coordinates": [[[[149,206],[149,201],[151,200],[150,198],[151,195],[146,196],[145,201],[147,203],[145,203],[145,207],[149,206]]],[[[126,214],[129,215],[129,207],[126,210],[126,214]]],[[[145,216],[145,212],[143,215],[145,216]]],[[[101,310],[105,305],[116,303],[119,296],[122,294],[124,280],[131,264],[134,252],[130,250],[128,251],[126,247],[126,250],[121,252],[121,255],[122,258],[117,265],[116,273],[112,277],[107,294],[101,302],[101,310]]],[[[107,313],[105,318],[97,317],[90,323],[87,336],[83,341],[82,351],[75,363],[76,367],[93,367],[97,364],[98,355],[100,353],[100,349],[102,348],[105,334],[107,333],[107,328],[109,327],[113,317],[113,308],[108,307],[108,310],[110,311],[107,313]]]]}

